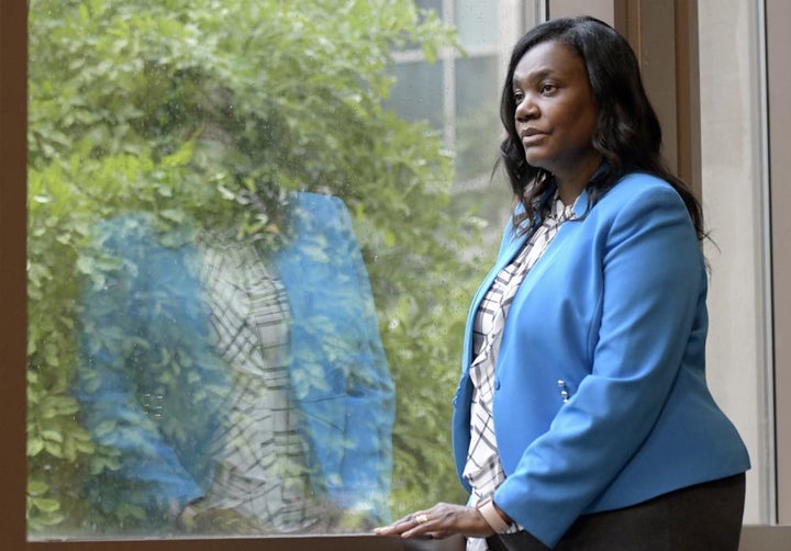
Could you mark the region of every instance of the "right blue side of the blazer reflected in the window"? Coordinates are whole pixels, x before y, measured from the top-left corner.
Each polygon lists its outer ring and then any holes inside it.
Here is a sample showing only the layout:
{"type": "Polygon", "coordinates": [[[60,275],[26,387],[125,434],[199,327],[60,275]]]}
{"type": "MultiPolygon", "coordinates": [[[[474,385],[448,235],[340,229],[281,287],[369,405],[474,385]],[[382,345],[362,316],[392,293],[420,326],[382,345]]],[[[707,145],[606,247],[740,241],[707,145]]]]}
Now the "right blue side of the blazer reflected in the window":
{"type": "Polygon", "coordinates": [[[276,260],[312,483],[341,508],[386,521],[394,392],[370,282],[343,202],[299,193],[296,203],[296,235],[276,260]]]}

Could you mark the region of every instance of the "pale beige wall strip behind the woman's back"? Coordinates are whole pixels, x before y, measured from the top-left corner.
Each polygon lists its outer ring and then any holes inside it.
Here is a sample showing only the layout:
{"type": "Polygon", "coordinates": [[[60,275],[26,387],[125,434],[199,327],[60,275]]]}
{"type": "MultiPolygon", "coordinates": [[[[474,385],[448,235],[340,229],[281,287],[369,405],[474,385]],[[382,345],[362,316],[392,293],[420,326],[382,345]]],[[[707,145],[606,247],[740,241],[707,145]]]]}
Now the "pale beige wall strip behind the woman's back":
{"type": "Polygon", "coordinates": [[[706,246],[709,383],[750,451],[745,521],[769,522],[773,463],[767,392],[760,13],[757,1],[700,0],[698,16],[702,194],[716,244],[706,246]]]}

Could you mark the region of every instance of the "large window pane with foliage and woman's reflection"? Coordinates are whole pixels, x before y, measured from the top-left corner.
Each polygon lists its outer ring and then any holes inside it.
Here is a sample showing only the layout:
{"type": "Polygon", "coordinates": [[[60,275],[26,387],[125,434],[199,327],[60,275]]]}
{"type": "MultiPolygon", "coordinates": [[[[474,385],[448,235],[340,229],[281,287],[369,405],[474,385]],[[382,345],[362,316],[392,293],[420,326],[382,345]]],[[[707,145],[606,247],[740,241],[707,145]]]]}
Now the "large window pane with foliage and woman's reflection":
{"type": "Polygon", "coordinates": [[[503,213],[459,182],[499,83],[419,3],[31,2],[31,538],[465,498],[450,398],[503,213]]]}

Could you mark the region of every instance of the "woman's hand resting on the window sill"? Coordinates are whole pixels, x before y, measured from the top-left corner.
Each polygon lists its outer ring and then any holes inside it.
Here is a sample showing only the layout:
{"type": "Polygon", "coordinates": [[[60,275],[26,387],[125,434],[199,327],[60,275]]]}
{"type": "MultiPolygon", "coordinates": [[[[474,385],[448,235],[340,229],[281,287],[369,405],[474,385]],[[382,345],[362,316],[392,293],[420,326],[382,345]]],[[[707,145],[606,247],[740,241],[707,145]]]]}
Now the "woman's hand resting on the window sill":
{"type": "Polygon", "coordinates": [[[389,526],[374,530],[377,536],[419,536],[443,539],[453,533],[487,538],[494,535],[483,516],[475,507],[438,503],[431,509],[417,510],[389,526]]]}

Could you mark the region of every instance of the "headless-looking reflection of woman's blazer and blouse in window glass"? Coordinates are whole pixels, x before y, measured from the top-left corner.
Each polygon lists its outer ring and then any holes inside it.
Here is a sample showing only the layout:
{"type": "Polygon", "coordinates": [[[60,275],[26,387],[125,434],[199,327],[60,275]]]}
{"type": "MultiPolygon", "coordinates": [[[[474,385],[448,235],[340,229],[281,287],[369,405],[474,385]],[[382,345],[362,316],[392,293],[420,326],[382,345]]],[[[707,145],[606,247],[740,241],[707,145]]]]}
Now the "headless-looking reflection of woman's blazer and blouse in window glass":
{"type": "Polygon", "coordinates": [[[387,518],[392,383],[343,203],[298,193],[285,245],[102,226],[123,260],[89,285],[80,398],[120,464],[100,509],[194,530],[360,528],[387,518]]]}

